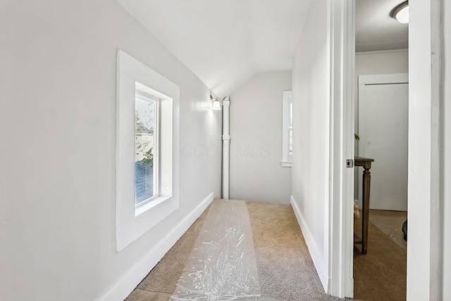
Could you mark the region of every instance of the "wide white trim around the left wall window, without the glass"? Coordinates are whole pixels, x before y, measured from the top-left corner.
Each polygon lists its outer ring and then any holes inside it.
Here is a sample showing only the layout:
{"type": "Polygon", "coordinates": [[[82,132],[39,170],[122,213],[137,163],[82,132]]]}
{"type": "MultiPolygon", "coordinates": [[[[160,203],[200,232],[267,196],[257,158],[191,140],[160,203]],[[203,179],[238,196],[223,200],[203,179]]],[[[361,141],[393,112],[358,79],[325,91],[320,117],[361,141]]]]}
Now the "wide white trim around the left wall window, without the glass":
{"type": "Polygon", "coordinates": [[[180,87],[118,50],[116,117],[116,250],[119,252],[179,207],[180,87]],[[138,84],[137,84],[138,83],[138,84]],[[160,99],[160,194],[135,208],[135,94],[160,99]],[[164,155],[163,155],[164,154],[164,155]]]}

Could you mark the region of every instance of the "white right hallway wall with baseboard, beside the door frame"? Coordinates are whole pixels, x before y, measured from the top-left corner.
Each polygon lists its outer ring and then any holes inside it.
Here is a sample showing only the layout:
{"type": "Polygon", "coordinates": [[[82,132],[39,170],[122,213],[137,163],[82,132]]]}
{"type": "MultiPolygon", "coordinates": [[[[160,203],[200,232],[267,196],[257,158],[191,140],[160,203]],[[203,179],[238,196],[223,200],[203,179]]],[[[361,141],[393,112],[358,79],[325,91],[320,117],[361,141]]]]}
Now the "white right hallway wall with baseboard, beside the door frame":
{"type": "Polygon", "coordinates": [[[312,1],[293,59],[292,205],[323,286],[328,281],[327,1],[312,1]]]}

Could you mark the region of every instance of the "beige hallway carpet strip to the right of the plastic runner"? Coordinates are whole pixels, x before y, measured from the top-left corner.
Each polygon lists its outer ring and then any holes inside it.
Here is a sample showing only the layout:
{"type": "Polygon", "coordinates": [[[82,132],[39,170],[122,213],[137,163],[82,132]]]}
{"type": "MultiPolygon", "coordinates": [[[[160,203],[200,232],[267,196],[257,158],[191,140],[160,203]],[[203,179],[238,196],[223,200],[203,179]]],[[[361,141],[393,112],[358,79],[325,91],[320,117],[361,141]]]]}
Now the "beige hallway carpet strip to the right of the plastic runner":
{"type": "Polygon", "coordinates": [[[291,205],[248,202],[261,297],[340,300],[324,293],[291,205]]]}

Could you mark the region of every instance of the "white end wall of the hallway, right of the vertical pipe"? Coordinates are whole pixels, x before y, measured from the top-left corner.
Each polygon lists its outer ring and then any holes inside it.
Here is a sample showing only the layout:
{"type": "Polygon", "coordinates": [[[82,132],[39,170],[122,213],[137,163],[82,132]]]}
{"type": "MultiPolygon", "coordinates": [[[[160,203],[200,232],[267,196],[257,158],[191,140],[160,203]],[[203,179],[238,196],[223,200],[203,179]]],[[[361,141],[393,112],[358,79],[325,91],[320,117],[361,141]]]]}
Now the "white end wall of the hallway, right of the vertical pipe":
{"type": "Polygon", "coordinates": [[[291,71],[259,73],[230,95],[230,198],[290,203],[282,167],[282,92],[291,71]]]}

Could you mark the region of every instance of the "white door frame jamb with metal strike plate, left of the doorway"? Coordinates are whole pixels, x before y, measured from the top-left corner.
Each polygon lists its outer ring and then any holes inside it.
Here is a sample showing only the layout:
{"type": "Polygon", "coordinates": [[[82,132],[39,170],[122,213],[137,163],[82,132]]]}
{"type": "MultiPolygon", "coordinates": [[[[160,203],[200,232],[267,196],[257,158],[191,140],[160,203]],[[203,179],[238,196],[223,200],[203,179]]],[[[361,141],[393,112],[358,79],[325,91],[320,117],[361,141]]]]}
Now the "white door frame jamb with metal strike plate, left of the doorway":
{"type": "Polygon", "coordinates": [[[330,170],[328,293],[353,297],[355,1],[328,1],[330,49],[330,170]]]}

